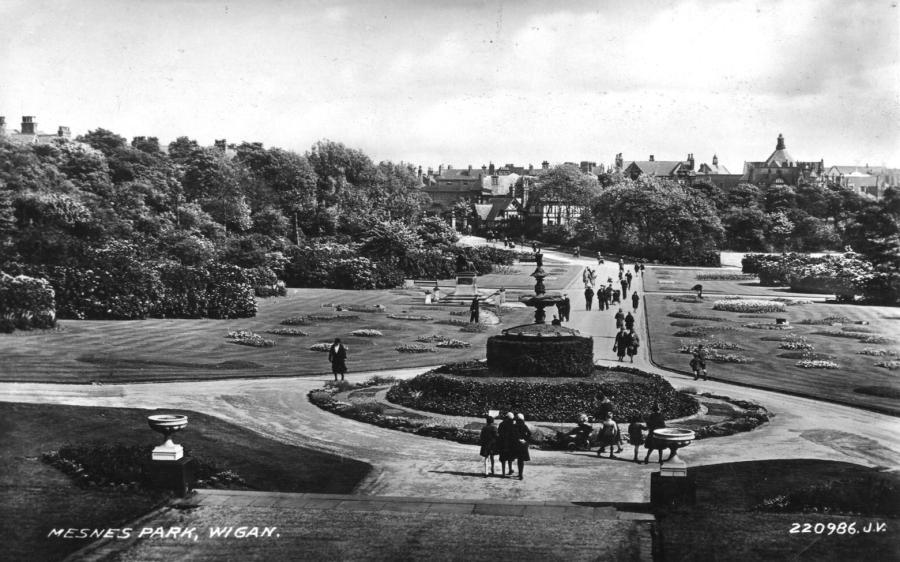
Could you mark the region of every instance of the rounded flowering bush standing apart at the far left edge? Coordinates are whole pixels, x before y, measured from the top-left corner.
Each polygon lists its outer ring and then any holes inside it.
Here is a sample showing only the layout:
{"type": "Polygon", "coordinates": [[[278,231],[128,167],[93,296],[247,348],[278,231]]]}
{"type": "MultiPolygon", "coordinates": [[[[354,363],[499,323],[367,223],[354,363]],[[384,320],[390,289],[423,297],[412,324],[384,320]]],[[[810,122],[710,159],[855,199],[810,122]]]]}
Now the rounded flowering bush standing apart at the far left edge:
{"type": "Polygon", "coordinates": [[[0,331],[45,329],[56,325],[56,301],[46,279],[0,272],[0,331]]]}

